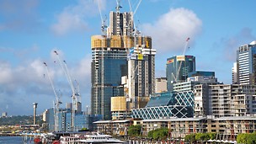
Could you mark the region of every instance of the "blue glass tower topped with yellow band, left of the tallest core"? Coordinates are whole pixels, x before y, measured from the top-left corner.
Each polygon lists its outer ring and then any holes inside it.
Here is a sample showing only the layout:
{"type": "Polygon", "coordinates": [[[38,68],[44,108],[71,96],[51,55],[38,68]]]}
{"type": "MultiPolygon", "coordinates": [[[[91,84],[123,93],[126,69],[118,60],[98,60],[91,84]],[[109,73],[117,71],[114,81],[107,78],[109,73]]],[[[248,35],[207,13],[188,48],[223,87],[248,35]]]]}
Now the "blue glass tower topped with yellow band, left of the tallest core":
{"type": "MultiPolygon", "coordinates": [[[[121,84],[121,77],[127,75],[126,48],[122,37],[93,35],[92,38],[92,99],[93,115],[111,119],[110,99],[121,84]]],[[[123,95],[120,93],[118,95],[123,95]]]]}

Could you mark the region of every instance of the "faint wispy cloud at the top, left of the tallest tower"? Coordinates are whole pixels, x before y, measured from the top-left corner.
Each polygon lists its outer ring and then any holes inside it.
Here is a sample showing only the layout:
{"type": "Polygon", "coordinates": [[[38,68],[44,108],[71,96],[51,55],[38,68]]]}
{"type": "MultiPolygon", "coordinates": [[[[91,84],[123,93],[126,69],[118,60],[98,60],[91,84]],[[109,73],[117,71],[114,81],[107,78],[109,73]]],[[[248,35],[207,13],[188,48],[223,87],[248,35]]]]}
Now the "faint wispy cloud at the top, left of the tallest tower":
{"type": "MultiPolygon", "coordinates": [[[[100,8],[105,8],[105,0],[99,0],[100,8]]],[[[88,29],[87,19],[99,13],[98,1],[79,0],[77,5],[68,6],[56,16],[56,24],[51,25],[51,30],[56,35],[66,35],[73,31],[88,29]]]]}

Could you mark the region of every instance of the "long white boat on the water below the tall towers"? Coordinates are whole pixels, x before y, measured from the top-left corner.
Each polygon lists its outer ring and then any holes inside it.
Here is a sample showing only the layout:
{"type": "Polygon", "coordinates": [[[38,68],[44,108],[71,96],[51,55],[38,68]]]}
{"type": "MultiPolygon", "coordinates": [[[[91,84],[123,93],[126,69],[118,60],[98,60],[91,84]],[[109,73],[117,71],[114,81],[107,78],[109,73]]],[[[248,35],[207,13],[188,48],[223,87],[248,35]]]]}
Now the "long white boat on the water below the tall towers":
{"type": "Polygon", "coordinates": [[[101,135],[97,132],[87,134],[74,134],[72,136],[61,136],[61,144],[96,144],[96,143],[125,143],[109,135],[101,135]]]}

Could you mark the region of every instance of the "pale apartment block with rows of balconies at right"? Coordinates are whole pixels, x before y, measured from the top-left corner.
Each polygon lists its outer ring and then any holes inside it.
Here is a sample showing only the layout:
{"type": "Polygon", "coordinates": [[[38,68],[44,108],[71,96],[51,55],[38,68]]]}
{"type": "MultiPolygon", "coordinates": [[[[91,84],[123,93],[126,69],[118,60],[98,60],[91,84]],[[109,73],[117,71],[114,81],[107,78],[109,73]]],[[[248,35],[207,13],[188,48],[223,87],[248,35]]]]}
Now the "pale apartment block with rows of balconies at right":
{"type": "Polygon", "coordinates": [[[254,115],[255,90],[255,85],[195,85],[195,116],[214,115],[220,118],[254,115]]]}

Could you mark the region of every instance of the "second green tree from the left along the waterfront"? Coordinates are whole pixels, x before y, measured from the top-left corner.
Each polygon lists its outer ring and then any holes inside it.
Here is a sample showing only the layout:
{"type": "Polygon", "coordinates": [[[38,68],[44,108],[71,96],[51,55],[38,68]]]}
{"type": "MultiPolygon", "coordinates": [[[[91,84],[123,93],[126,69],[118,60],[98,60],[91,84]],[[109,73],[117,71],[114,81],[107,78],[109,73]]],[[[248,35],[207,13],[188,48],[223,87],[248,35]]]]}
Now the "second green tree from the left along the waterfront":
{"type": "Polygon", "coordinates": [[[154,140],[165,140],[168,137],[168,128],[161,128],[148,132],[148,137],[154,140]]]}

